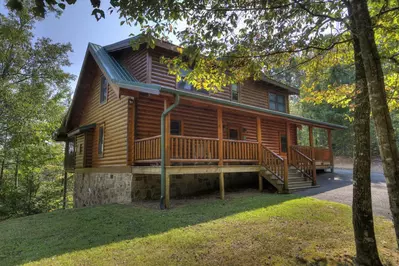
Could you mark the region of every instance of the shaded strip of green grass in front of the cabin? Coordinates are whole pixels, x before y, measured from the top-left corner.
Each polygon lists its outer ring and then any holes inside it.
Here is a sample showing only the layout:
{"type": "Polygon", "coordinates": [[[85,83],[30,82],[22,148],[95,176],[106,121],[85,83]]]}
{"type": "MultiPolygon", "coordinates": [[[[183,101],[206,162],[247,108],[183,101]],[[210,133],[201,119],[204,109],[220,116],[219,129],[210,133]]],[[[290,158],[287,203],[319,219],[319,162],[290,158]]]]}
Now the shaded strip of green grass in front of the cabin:
{"type": "Polygon", "coordinates": [[[207,200],[166,211],[104,205],[7,220],[0,223],[0,265],[17,265],[156,235],[299,197],[259,193],[225,201],[207,200]]]}

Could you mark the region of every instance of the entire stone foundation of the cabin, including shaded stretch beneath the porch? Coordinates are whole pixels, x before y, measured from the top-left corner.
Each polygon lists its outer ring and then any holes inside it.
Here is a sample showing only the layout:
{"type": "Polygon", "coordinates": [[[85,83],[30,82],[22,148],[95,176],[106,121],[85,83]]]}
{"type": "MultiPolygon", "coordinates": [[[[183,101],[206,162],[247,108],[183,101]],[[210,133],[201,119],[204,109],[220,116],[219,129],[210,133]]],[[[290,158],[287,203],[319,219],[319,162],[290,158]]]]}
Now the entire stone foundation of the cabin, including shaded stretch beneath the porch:
{"type": "MultiPolygon", "coordinates": [[[[258,184],[256,173],[225,174],[225,189],[258,184]]],[[[171,176],[171,198],[205,194],[219,190],[219,174],[171,176]]],[[[130,203],[133,200],[157,200],[161,196],[160,175],[131,173],[75,174],[74,206],[85,207],[108,203],[130,203]]]]}

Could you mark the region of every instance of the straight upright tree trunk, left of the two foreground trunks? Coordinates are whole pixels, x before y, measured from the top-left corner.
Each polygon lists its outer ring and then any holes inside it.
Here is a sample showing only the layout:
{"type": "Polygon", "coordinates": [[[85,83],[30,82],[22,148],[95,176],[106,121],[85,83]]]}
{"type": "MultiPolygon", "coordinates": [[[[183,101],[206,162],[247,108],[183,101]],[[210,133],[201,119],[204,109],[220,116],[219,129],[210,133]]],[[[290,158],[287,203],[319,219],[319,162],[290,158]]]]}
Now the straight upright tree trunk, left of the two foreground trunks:
{"type": "MultiPolygon", "coordinates": [[[[349,8],[349,15],[351,9],[349,8]]],[[[352,16],[351,16],[352,18],[352,16]]],[[[355,31],[355,23],[351,19],[355,31]]],[[[352,31],[352,33],[354,32],[352,31]]],[[[355,54],[356,95],[354,112],[355,154],[353,165],[352,222],[356,265],[382,265],[375,240],[370,185],[370,101],[359,40],[352,34],[355,54]]]]}

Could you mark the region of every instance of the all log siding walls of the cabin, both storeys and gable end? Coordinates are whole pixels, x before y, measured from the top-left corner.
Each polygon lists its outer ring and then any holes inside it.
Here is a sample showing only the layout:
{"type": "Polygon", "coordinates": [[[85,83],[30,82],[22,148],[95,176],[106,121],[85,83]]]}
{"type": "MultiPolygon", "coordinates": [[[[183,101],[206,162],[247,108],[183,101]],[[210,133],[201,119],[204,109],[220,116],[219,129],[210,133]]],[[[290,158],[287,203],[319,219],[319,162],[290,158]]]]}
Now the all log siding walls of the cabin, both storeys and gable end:
{"type": "MultiPolygon", "coordinates": [[[[140,82],[159,84],[176,88],[175,76],[168,74],[168,69],[160,63],[161,56],[171,56],[162,49],[138,51],[125,49],[112,53],[132,75],[140,82]]],[[[76,167],[105,167],[124,166],[132,163],[131,144],[134,139],[141,139],[159,135],[160,119],[164,110],[164,101],[160,96],[149,96],[140,93],[135,99],[134,106],[128,104],[129,97],[120,99],[111,87],[108,88],[107,102],[100,104],[100,81],[102,73],[94,60],[90,57],[86,66],[84,78],[86,87],[81,92],[78,109],[74,110],[76,122],[74,128],[96,123],[96,128],[86,136],[80,137],[79,144],[83,143],[86,154],[77,157],[76,167]],[[133,109],[132,109],[133,108],[133,109]],[[135,125],[130,125],[129,123],[135,125]],[[98,155],[99,126],[104,125],[104,153],[98,155]],[[83,142],[82,142],[83,141],[83,142]],[[83,157],[86,157],[87,160],[83,157]]],[[[287,112],[288,93],[282,92],[273,86],[260,81],[247,81],[239,85],[239,102],[262,108],[269,107],[269,92],[286,95],[287,112]]],[[[218,93],[211,93],[210,97],[231,100],[231,87],[226,87],[218,93]]],[[[171,113],[172,120],[182,122],[182,135],[193,137],[217,138],[217,112],[211,107],[180,104],[171,113]]],[[[228,137],[229,127],[238,127],[240,138],[256,141],[256,117],[245,113],[223,112],[223,135],[228,137]]],[[[280,135],[286,134],[286,127],[282,121],[262,119],[262,141],[273,151],[280,152],[280,135]]],[[[292,125],[291,139],[297,143],[296,126],[292,125]]],[[[78,142],[77,141],[77,142],[78,142]]],[[[76,143],[76,149],[79,148],[76,143]]]]}

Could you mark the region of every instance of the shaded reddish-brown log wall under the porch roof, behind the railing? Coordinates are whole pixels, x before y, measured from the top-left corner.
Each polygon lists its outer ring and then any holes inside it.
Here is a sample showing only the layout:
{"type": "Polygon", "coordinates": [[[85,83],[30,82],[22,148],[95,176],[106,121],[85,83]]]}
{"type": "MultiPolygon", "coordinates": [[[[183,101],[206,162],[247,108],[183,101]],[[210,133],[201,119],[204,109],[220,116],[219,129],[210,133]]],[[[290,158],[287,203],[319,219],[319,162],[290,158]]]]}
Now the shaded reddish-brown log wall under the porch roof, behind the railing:
{"type": "MultiPolygon", "coordinates": [[[[136,139],[152,137],[161,134],[161,114],[164,101],[160,96],[144,94],[136,101],[136,139]]],[[[189,106],[181,103],[171,113],[171,120],[179,120],[182,125],[182,135],[190,137],[217,138],[217,112],[200,106],[189,106]]],[[[262,142],[276,153],[280,152],[280,136],[287,134],[284,121],[261,119],[262,142]]],[[[243,113],[223,111],[223,138],[227,139],[228,129],[238,128],[241,139],[257,141],[256,117],[243,113]]],[[[296,125],[292,124],[290,134],[293,144],[296,144],[296,125]]]]}

